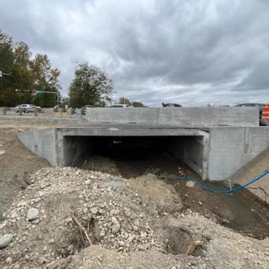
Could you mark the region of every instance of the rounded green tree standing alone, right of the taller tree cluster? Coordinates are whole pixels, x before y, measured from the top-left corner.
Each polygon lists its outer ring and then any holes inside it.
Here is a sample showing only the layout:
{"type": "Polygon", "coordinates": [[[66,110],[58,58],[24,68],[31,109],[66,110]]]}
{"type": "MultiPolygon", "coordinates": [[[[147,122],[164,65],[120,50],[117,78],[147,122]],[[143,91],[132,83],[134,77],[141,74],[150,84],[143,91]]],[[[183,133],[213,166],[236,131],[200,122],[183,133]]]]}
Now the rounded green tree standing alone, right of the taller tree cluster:
{"type": "Polygon", "coordinates": [[[112,93],[113,84],[108,74],[86,62],[75,70],[75,78],[69,86],[69,105],[72,108],[103,106],[111,102],[112,93]]]}

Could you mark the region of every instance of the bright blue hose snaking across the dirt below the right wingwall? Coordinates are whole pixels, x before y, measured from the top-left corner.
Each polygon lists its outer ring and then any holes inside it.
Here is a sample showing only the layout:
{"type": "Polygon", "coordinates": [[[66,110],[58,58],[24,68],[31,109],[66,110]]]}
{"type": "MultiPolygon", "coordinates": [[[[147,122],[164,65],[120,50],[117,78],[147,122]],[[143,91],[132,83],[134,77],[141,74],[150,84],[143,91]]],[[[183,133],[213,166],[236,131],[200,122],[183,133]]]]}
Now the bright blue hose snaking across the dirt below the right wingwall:
{"type": "MultiPolygon", "coordinates": [[[[149,169],[144,167],[144,166],[141,166],[139,164],[135,164],[135,167],[138,168],[139,170],[142,170],[142,171],[148,171],[149,169]]],[[[181,179],[183,181],[193,181],[196,185],[198,185],[200,188],[204,189],[204,190],[207,190],[209,191],[210,193],[234,193],[236,191],[239,191],[239,190],[243,190],[244,188],[246,188],[248,185],[251,185],[252,183],[256,182],[256,181],[259,181],[261,178],[265,177],[266,175],[269,174],[269,170],[266,170],[264,171],[263,173],[261,173],[260,175],[256,176],[255,178],[251,179],[251,181],[248,181],[247,183],[245,183],[244,185],[240,185],[238,187],[235,187],[235,188],[232,188],[231,190],[214,190],[212,188],[208,188],[207,186],[203,185],[202,183],[200,183],[199,181],[196,181],[195,178],[191,178],[189,176],[176,176],[176,177],[173,177],[173,178],[176,178],[176,179],[181,179]]],[[[155,174],[156,176],[164,176],[164,175],[161,175],[160,173],[156,173],[155,174]]]]}

